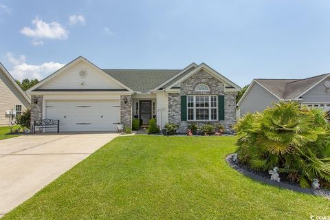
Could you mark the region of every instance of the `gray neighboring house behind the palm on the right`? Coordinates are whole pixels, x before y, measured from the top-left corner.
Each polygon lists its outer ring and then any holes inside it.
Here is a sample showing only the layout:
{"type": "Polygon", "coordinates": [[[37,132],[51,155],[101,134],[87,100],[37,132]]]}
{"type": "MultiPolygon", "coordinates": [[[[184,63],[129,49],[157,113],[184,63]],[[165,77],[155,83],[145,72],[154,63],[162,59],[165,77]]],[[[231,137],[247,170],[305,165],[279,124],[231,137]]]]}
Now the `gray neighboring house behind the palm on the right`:
{"type": "Polygon", "coordinates": [[[241,115],[263,111],[273,102],[297,101],[330,110],[330,74],[304,79],[254,79],[237,103],[241,115]]]}

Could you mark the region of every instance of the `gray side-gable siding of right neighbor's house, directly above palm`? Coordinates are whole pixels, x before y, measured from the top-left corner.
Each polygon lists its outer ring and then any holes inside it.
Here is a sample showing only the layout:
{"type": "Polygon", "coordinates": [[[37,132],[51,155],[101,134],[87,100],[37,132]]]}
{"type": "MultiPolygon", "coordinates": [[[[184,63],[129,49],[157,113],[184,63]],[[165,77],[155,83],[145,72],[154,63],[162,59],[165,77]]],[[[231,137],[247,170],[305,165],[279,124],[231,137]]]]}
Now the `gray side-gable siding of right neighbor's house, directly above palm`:
{"type": "Polygon", "coordinates": [[[272,107],[273,102],[278,102],[278,98],[270,94],[269,91],[261,87],[258,83],[254,83],[249,93],[245,96],[240,105],[241,115],[256,111],[263,111],[267,107],[272,107]]]}

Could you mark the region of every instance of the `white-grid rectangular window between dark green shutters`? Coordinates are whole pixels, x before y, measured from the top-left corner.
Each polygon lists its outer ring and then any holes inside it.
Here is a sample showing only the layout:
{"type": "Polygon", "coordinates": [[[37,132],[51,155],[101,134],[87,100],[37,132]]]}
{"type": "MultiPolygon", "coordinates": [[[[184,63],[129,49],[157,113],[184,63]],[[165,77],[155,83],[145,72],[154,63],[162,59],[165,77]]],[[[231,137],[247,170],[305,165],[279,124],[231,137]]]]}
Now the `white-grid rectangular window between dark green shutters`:
{"type": "Polygon", "coordinates": [[[188,96],[188,120],[217,120],[217,96],[188,96]]]}

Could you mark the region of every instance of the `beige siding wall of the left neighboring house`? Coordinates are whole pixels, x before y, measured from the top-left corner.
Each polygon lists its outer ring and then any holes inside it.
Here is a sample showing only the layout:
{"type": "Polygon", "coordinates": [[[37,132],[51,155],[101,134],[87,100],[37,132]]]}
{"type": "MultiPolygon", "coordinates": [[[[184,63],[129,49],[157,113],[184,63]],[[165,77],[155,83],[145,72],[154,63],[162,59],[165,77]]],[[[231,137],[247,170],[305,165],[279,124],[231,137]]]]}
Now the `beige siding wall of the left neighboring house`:
{"type": "Polygon", "coordinates": [[[9,118],[5,116],[5,111],[15,110],[16,104],[22,105],[22,111],[26,108],[22,102],[17,98],[21,97],[21,94],[17,88],[12,85],[10,80],[5,76],[5,74],[0,70],[0,124],[9,124],[9,118]]]}

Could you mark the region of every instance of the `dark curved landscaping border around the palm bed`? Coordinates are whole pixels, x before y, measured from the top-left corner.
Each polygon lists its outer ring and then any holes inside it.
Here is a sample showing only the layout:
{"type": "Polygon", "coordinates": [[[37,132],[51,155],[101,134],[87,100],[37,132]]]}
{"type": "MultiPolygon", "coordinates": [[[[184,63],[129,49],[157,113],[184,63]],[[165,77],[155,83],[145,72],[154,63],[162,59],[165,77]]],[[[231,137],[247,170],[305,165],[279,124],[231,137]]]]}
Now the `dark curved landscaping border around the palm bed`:
{"type": "Polygon", "coordinates": [[[268,184],[268,185],[271,185],[271,186],[277,186],[277,187],[280,187],[280,188],[286,188],[288,190],[293,190],[293,191],[296,191],[296,192],[303,192],[303,193],[310,194],[310,195],[318,195],[318,196],[325,197],[325,198],[330,200],[330,191],[327,191],[327,190],[314,190],[314,188],[301,188],[299,186],[294,186],[294,185],[287,184],[287,183],[281,182],[281,181],[280,182],[274,181],[270,178],[262,177],[260,175],[257,175],[256,173],[252,173],[249,170],[246,170],[245,168],[242,168],[241,166],[238,166],[237,164],[235,164],[232,161],[232,156],[233,155],[234,154],[232,153],[232,154],[227,155],[225,157],[225,161],[227,162],[227,164],[229,164],[232,168],[237,170],[239,173],[241,173],[241,174],[243,174],[247,177],[250,177],[251,179],[259,181],[263,184],[268,184]]]}

